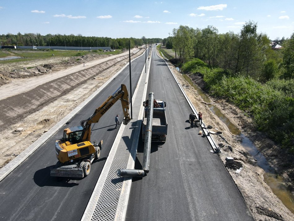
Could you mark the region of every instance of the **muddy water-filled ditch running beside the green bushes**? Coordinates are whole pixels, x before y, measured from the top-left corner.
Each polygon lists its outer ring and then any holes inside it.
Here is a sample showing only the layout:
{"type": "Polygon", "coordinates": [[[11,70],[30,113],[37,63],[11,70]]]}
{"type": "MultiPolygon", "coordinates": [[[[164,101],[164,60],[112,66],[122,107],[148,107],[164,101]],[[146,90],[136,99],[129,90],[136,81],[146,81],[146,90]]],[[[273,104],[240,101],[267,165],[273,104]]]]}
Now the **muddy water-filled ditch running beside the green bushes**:
{"type": "MultiPolygon", "coordinates": [[[[178,71],[180,72],[179,69],[178,71]]],[[[183,77],[189,82],[191,86],[193,86],[203,101],[207,103],[212,102],[212,100],[207,97],[186,74],[183,74],[183,77]]],[[[242,139],[242,147],[244,147],[244,149],[246,149],[254,157],[254,159],[257,160],[257,165],[264,170],[263,177],[264,181],[266,181],[266,184],[271,188],[275,195],[279,197],[283,204],[294,214],[294,197],[292,196],[291,192],[283,186],[283,183],[285,182],[283,176],[279,176],[275,172],[275,170],[266,161],[266,158],[262,155],[262,153],[259,152],[254,146],[254,144],[243,133],[241,133],[241,131],[216,106],[208,104],[208,107],[212,113],[214,113],[224,124],[227,125],[228,129],[233,135],[240,136],[242,139]]]]}

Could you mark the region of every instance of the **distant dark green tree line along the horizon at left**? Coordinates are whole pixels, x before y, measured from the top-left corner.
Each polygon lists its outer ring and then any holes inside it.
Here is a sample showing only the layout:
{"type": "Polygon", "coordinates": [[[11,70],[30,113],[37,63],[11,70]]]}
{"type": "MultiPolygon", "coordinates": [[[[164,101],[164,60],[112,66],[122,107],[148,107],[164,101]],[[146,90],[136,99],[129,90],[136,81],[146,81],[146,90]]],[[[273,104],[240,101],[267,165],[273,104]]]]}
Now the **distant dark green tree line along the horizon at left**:
{"type": "Polygon", "coordinates": [[[2,45],[15,46],[84,46],[84,47],[111,47],[112,49],[123,49],[140,46],[148,42],[162,42],[161,38],[108,38],[108,37],[85,37],[82,35],[61,35],[47,34],[42,36],[40,33],[8,33],[0,35],[2,45]]]}

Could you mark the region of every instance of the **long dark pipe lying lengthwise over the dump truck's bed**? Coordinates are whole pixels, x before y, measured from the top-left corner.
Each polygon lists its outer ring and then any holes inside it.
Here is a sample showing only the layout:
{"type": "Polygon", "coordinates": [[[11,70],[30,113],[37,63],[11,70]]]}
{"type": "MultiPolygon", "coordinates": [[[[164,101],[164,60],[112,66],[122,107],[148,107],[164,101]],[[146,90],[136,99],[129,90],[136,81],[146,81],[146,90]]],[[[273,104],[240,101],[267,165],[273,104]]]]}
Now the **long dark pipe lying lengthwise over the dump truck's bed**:
{"type": "Polygon", "coordinates": [[[145,173],[149,172],[149,163],[150,163],[153,100],[154,100],[154,93],[150,92],[149,100],[148,100],[147,123],[146,123],[145,143],[144,143],[144,159],[143,159],[143,166],[142,166],[142,170],[144,170],[145,173]]]}

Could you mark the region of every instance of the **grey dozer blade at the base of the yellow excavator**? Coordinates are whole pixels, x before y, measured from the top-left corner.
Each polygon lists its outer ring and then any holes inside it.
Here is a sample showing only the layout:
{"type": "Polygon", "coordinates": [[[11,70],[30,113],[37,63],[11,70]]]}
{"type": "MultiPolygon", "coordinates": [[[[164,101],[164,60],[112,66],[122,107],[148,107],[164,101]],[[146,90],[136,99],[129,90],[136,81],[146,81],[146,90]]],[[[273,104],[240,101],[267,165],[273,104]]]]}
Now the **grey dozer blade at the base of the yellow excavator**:
{"type": "Polygon", "coordinates": [[[81,168],[73,168],[72,165],[68,165],[50,168],[50,176],[83,178],[84,173],[81,168]]]}

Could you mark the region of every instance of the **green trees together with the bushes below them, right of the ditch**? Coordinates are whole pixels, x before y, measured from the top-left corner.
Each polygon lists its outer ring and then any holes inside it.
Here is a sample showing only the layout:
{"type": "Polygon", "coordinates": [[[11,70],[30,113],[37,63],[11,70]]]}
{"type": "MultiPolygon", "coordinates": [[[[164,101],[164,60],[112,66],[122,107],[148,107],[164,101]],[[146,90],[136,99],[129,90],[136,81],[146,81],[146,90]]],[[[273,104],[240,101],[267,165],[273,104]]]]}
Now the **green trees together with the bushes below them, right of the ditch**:
{"type": "Polygon", "coordinates": [[[257,130],[294,153],[294,33],[274,41],[282,49],[273,50],[249,21],[240,33],[181,25],[163,44],[176,52],[184,73],[203,77],[210,95],[251,115],[257,130]]]}

